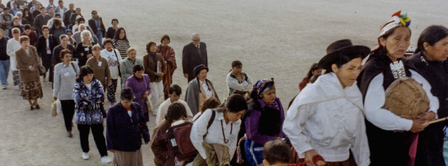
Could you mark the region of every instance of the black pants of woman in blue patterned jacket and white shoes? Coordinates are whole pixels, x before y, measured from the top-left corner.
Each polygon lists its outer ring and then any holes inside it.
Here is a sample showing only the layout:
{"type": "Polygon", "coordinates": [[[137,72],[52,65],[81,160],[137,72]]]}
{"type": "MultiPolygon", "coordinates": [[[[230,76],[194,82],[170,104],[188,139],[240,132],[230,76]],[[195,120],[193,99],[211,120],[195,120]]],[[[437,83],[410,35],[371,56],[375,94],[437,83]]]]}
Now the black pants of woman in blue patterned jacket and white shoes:
{"type": "Polygon", "coordinates": [[[103,135],[103,123],[99,124],[78,124],[79,138],[81,140],[82,152],[89,152],[89,133],[92,128],[93,139],[95,140],[96,147],[98,148],[101,157],[107,156],[108,151],[106,149],[106,140],[103,135]]]}

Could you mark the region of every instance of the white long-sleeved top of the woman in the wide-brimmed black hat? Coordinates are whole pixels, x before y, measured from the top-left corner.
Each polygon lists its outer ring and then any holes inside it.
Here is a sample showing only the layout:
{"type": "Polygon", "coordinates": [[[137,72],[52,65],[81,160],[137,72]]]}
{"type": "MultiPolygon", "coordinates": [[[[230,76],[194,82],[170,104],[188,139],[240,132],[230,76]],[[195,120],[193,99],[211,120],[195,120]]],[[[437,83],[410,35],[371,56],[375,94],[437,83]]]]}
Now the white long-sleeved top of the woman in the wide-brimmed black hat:
{"type": "Polygon", "coordinates": [[[352,150],[358,166],[370,164],[362,113],[362,94],[356,85],[342,88],[335,73],[308,84],[287,111],[283,132],[300,158],[314,149],[327,162],[341,162],[352,150]]]}

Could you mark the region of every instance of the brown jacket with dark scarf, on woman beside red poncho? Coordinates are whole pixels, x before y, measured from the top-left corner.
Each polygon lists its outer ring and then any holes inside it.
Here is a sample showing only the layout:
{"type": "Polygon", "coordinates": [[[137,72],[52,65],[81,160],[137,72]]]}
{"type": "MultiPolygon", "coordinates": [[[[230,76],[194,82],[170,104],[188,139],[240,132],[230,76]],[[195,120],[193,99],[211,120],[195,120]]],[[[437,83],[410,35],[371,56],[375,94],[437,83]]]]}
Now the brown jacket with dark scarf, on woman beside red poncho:
{"type": "MultiPolygon", "coordinates": [[[[167,67],[164,57],[159,53],[156,53],[156,56],[157,60],[162,63],[162,71],[159,72],[166,74],[167,67]]],[[[163,77],[157,76],[157,70],[155,70],[157,64],[154,62],[154,58],[151,55],[146,54],[143,56],[143,65],[145,67],[145,74],[149,76],[151,82],[160,82],[163,80],[163,77]]]]}

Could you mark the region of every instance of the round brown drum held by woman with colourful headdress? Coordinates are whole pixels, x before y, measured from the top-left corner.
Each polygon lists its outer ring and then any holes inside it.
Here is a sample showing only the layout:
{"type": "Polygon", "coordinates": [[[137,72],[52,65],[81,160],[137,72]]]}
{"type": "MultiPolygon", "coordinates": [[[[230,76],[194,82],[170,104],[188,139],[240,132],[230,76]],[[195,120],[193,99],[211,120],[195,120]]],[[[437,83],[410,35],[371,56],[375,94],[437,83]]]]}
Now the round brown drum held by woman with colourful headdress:
{"type": "Polygon", "coordinates": [[[429,110],[429,98],[422,85],[410,77],[398,78],[386,89],[383,109],[406,119],[429,110]]]}

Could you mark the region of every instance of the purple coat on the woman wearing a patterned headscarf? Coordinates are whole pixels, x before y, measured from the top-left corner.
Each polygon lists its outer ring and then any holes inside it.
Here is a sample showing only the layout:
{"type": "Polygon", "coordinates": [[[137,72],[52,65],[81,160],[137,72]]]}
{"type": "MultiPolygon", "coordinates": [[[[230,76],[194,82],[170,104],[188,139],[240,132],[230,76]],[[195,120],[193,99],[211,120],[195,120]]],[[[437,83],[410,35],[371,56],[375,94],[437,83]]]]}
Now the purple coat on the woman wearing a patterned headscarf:
{"type": "MultiPolygon", "coordinates": [[[[244,122],[245,126],[246,126],[246,136],[248,139],[250,139],[258,144],[264,145],[267,141],[276,140],[277,137],[283,138],[285,136],[283,131],[281,130],[283,128],[284,110],[283,110],[283,106],[282,106],[279,98],[276,98],[276,101],[274,103],[272,103],[271,105],[266,105],[266,103],[264,103],[263,100],[258,99],[257,101],[251,102],[248,105],[248,107],[249,107],[248,109],[250,110],[250,114],[249,114],[249,116],[246,117],[245,122],[244,122]],[[279,119],[270,119],[269,117],[268,117],[268,119],[260,119],[262,116],[262,113],[264,111],[264,107],[268,107],[268,108],[280,111],[280,114],[277,114],[278,115],[277,117],[279,119]],[[270,136],[270,135],[260,133],[260,130],[259,130],[259,128],[261,126],[260,123],[266,123],[265,120],[268,120],[268,121],[275,120],[275,121],[279,122],[278,123],[279,127],[277,127],[277,129],[279,128],[280,131],[276,136],[270,136]],[[260,122],[260,121],[264,121],[264,122],[260,122]]],[[[271,117],[271,118],[273,118],[273,117],[271,117]]],[[[264,128],[264,127],[266,127],[266,126],[262,126],[261,128],[263,128],[263,129],[261,129],[261,130],[266,131],[266,130],[271,129],[271,128],[264,128]]]]}

